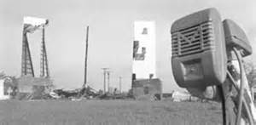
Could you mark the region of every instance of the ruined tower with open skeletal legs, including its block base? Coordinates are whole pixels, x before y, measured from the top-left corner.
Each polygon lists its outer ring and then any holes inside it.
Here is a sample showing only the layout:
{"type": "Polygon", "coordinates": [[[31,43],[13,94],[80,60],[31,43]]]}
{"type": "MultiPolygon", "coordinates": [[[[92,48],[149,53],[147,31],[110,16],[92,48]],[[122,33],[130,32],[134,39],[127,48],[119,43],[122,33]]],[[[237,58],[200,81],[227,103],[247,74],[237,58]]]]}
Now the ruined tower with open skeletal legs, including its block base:
{"type": "Polygon", "coordinates": [[[21,55],[21,76],[18,82],[18,99],[43,99],[53,88],[49,77],[49,64],[45,47],[45,29],[48,20],[34,17],[25,17],[22,32],[22,55],[21,55]],[[32,56],[29,48],[27,33],[33,33],[38,29],[42,30],[40,77],[35,77],[32,65],[32,56]]]}

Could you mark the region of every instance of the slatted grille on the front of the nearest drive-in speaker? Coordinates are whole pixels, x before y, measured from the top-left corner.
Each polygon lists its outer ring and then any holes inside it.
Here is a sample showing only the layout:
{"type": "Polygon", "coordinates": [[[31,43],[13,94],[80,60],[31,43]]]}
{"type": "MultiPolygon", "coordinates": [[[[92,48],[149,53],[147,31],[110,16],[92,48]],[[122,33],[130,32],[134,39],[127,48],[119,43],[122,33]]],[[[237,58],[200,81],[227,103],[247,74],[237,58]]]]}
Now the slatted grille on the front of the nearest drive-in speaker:
{"type": "Polygon", "coordinates": [[[182,57],[190,54],[214,49],[212,21],[172,33],[172,57],[182,57]]]}

